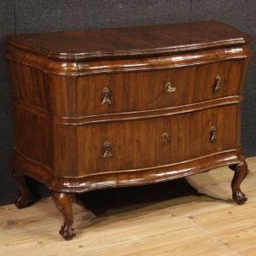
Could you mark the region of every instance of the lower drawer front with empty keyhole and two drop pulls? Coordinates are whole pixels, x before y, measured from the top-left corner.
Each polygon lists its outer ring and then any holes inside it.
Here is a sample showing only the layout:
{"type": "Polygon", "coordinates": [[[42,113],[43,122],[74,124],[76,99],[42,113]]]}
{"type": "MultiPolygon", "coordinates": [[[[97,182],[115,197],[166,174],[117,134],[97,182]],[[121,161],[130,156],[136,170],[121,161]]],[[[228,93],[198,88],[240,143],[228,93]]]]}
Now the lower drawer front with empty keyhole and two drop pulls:
{"type": "Polygon", "coordinates": [[[233,149],[236,105],[164,118],[82,125],[79,176],[168,165],[233,149]]]}

